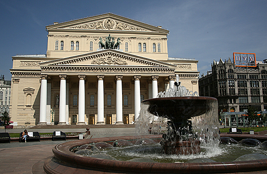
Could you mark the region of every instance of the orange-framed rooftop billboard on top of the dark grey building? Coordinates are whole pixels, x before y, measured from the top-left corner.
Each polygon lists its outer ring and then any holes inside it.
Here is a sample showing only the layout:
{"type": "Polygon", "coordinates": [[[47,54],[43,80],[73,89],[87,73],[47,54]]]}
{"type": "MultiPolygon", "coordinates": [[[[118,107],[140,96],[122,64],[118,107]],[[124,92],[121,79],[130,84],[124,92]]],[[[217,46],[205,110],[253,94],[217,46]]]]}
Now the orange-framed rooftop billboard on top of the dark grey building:
{"type": "Polygon", "coordinates": [[[233,53],[236,67],[257,67],[255,53],[233,53]]]}

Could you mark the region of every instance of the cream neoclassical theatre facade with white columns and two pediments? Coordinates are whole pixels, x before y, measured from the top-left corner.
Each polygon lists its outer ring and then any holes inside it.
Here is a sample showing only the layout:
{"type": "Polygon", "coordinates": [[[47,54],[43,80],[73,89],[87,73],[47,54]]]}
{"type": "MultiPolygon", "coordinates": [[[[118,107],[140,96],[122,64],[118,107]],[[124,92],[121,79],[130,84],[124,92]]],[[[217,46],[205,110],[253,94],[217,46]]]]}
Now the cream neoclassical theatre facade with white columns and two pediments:
{"type": "Polygon", "coordinates": [[[161,26],[106,13],[46,29],[46,55],[12,57],[18,125],[132,124],[141,101],[173,87],[176,75],[198,91],[198,61],[169,58],[161,26]]]}

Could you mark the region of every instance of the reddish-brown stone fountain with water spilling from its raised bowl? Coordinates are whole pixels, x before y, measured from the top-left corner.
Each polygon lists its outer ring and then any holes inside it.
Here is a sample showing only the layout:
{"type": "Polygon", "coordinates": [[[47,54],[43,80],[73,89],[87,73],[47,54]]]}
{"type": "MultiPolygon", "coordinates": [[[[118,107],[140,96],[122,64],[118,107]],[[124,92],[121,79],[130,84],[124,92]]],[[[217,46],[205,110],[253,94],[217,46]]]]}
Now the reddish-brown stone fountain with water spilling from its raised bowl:
{"type": "MultiPolygon", "coordinates": [[[[54,156],[48,159],[44,165],[44,171],[47,174],[74,174],[74,173],[94,173],[94,174],[263,174],[267,172],[267,159],[251,161],[234,161],[234,162],[214,162],[205,161],[204,163],[153,163],[153,162],[133,162],[100,159],[97,157],[86,157],[74,154],[70,150],[85,144],[94,144],[98,142],[107,142],[112,144],[116,140],[124,139],[135,144],[140,138],[150,138],[155,142],[160,142],[163,153],[171,155],[194,155],[200,153],[200,142],[213,145],[219,144],[217,129],[217,100],[212,97],[181,96],[179,82],[176,83],[175,96],[171,97],[170,93],[162,92],[161,98],[147,99],[142,102],[143,108],[140,115],[144,117],[157,116],[168,120],[168,131],[163,135],[141,135],[127,137],[109,137],[95,138],[78,141],[70,141],[56,145],[53,148],[54,156]],[[179,95],[179,96],[177,96],[179,95]],[[166,97],[167,96],[167,97],[166,97]],[[215,124],[215,126],[214,126],[215,124]],[[215,141],[214,141],[215,140],[215,141]],[[259,172],[258,172],[259,171],[259,172]]],[[[182,93],[183,93],[182,92],[182,93]]],[[[140,125],[149,125],[149,121],[139,118],[140,125]]],[[[247,135],[236,135],[243,139],[247,135]]],[[[255,138],[256,135],[249,138],[255,138]]],[[[259,136],[258,136],[259,138],[259,136]]],[[[262,140],[267,138],[262,136],[262,140]]]]}

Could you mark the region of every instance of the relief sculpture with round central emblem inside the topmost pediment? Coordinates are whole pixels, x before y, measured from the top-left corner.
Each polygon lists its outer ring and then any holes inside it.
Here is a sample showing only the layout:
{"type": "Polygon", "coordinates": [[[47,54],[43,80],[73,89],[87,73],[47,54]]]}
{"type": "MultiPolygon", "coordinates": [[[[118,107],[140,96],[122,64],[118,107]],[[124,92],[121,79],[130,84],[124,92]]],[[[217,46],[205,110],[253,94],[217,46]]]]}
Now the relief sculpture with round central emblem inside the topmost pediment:
{"type": "Polygon", "coordinates": [[[113,19],[105,19],[96,22],[90,22],[82,25],[72,26],[73,29],[102,29],[102,30],[134,30],[147,31],[146,29],[136,27],[127,23],[119,22],[113,19]]]}

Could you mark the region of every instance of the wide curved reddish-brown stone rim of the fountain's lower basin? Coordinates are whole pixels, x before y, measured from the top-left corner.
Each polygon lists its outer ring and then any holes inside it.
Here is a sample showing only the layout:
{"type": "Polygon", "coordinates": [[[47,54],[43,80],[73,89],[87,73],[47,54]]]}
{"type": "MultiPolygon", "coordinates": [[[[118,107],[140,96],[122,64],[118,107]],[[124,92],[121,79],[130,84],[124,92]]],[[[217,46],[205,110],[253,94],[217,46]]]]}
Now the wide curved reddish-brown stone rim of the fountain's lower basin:
{"type": "MultiPolygon", "coordinates": [[[[221,135],[224,136],[224,135],[221,135]]],[[[229,134],[225,134],[229,136],[229,134]]],[[[256,138],[267,140],[265,136],[235,135],[239,138],[256,138]]],[[[74,154],[69,150],[73,147],[97,142],[112,143],[118,139],[125,139],[135,143],[140,138],[151,138],[156,142],[161,135],[127,136],[94,138],[69,141],[56,145],[53,148],[54,157],[44,164],[47,174],[264,174],[267,173],[267,159],[241,162],[214,162],[214,163],[140,163],[127,161],[113,161],[96,159],[74,154]]]]}

